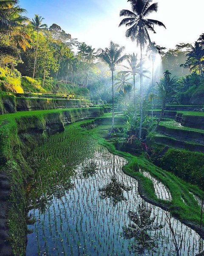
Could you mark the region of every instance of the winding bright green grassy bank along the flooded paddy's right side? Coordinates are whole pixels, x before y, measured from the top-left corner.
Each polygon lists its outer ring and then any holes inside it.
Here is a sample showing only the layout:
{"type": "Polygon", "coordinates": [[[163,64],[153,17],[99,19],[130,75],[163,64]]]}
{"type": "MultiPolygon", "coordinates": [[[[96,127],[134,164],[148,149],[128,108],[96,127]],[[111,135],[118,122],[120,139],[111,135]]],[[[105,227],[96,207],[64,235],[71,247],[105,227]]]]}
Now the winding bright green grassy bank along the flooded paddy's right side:
{"type": "Polygon", "coordinates": [[[130,153],[116,150],[112,143],[100,137],[99,127],[91,130],[86,129],[90,127],[91,123],[94,123],[94,119],[77,122],[74,126],[81,129],[85,134],[91,135],[100,145],[105,146],[111,153],[124,157],[128,161],[128,164],[123,167],[123,172],[138,180],[139,194],[145,201],[169,211],[174,217],[193,228],[204,238],[204,220],[202,221],[203,227],[201,229],[199,228],[201,207],[191,194],[193,193],[195,196],[201,198],[202,191],[198,186],[187,183],[171,172],[167,172],[155,166],[143,156],[136,157],[130,153]],[[139,172],[140,170],[150,172],[153,177],[161,181],[170,190],[172,201],[164,201],[157,198],[153,182],[147,177],[144,177],[142,173],[139,172]]]}

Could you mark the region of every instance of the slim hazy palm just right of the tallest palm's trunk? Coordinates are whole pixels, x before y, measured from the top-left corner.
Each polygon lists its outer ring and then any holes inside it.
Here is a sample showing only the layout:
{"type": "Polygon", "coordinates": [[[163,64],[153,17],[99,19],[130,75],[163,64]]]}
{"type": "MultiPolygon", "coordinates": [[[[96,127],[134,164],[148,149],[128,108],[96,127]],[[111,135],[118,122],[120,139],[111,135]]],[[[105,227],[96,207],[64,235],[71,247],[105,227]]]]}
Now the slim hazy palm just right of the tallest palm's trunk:
{"type": "Polygon", "coordinates": [[[149,53],[149,60],[152,61],[152,92],[150,95],[151,98],[151,108],[152,108],[152,122],[153,122],[153,99],[154,99],[154,93],[153,93],[153,87],[154,87],[154,62],[156,60],[156,55],[161,54],[162,50],[166,49],[165,47],[160,47],[159,45],[156,45],[155,42],[150,42],[150,44],[147,46],[147,53],[149,53]]]}

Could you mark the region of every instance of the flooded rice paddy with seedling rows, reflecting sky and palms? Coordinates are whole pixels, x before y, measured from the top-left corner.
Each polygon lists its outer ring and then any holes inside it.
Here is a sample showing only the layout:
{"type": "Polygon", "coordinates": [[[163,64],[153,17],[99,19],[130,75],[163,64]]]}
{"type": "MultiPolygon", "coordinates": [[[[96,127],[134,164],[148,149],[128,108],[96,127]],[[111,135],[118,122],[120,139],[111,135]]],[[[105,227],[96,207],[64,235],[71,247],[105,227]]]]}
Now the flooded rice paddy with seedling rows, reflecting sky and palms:
{"type": "MultiPolygon", "coordinates": [[[[173,256],[168,218],[181,256],[203,251],[197,233],[139,196],[137,181],[122,172],[125,159],[72,125],[37,148],[29,161],[35,176],[26,188],[31,231],[26,256],[173,256]]],[[[170,200],[157,183],[156,195],[170,200]]]]}

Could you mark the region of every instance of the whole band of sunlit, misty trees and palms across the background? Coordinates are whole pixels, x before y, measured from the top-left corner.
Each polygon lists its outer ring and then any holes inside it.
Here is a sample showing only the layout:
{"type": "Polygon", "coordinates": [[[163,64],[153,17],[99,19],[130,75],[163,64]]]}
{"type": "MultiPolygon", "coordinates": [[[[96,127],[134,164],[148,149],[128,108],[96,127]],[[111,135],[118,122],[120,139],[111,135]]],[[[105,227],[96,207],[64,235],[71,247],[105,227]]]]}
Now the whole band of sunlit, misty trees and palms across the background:
{"type": "Polygon", "coordinates": [[[123,19],[119,26],[127,27],[125,35],[136,42],[140,56],[136,52],[124,55],[125,47],[113,42],[105,49],[92,48],[71,38],[55,23],[48,27],[40,15],[29,20],[18,0],[0,0],[0,67],[11,76],[18,70],[21,76],[40,81],[43,90],[55,93],[58,84],[63,84],[64,93],[69,84],[88,88],[95,99],[112,102],[112,130],[114,104],[118,102],[126,111],[133,103],[141,138],[147,101],[153,123],[156,100],[163,108],[170,100],[187,104],[196,90],[203,91],[204,34],[193,45],[182,43],[164,52],[165,47],[152,42],[149,34],[156,33],[156,26],[165,28],[161,21],[148,17],[157,12],[158,4],[152,0],[128,2],[131,9],[120,12],[123,19]],[[161,55],[160,81],[155,72],[157,55],[161,55]],[[147,56],[150,70],[144,67],[147,56]]]}

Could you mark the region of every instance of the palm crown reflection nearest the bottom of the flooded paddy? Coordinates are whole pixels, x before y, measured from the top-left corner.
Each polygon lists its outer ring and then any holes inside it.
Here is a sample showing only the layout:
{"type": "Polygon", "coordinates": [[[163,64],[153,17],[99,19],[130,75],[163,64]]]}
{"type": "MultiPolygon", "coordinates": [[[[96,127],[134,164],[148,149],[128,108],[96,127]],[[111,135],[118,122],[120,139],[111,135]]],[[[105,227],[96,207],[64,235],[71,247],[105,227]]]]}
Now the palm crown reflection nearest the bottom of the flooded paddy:
{"type": "Polygon", "coordinates": [[[124,236],[126,239],[134,238],[132,244],[133,250],[138,253],[144,253],[144,250],[152,250],[156,247],[150,231],[160,230],[164,226],[154,224],[155,217],[151,218],[152,208],[148,208],[145,203],[139,205],[138,212],[128,212],[130,224],[128,227],[123,227],[124,236]]]}

